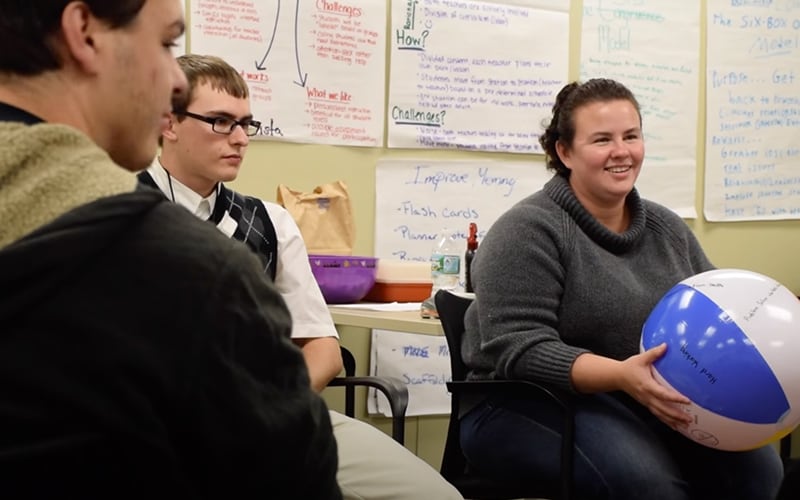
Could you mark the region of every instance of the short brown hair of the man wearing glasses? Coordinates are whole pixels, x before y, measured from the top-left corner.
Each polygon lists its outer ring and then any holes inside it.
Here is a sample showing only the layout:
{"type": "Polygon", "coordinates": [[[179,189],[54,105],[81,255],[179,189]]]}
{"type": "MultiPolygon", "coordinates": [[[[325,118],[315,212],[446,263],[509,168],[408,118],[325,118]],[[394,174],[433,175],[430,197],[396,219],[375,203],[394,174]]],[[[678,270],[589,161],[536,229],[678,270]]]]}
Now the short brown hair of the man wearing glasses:
{"type": "MultiPolygon", "coordinates": [[[[242,75],[220,57],[186,54],[178,57],[178,65],[186,74],[189,85],[187,92],[173,100],[173,111],[186,111],[198,85],[208,85],[239,99],[247,99],[250,95],[242,75]]],[[[182,118],[178,117],[179,120],[182,118]]]]}

